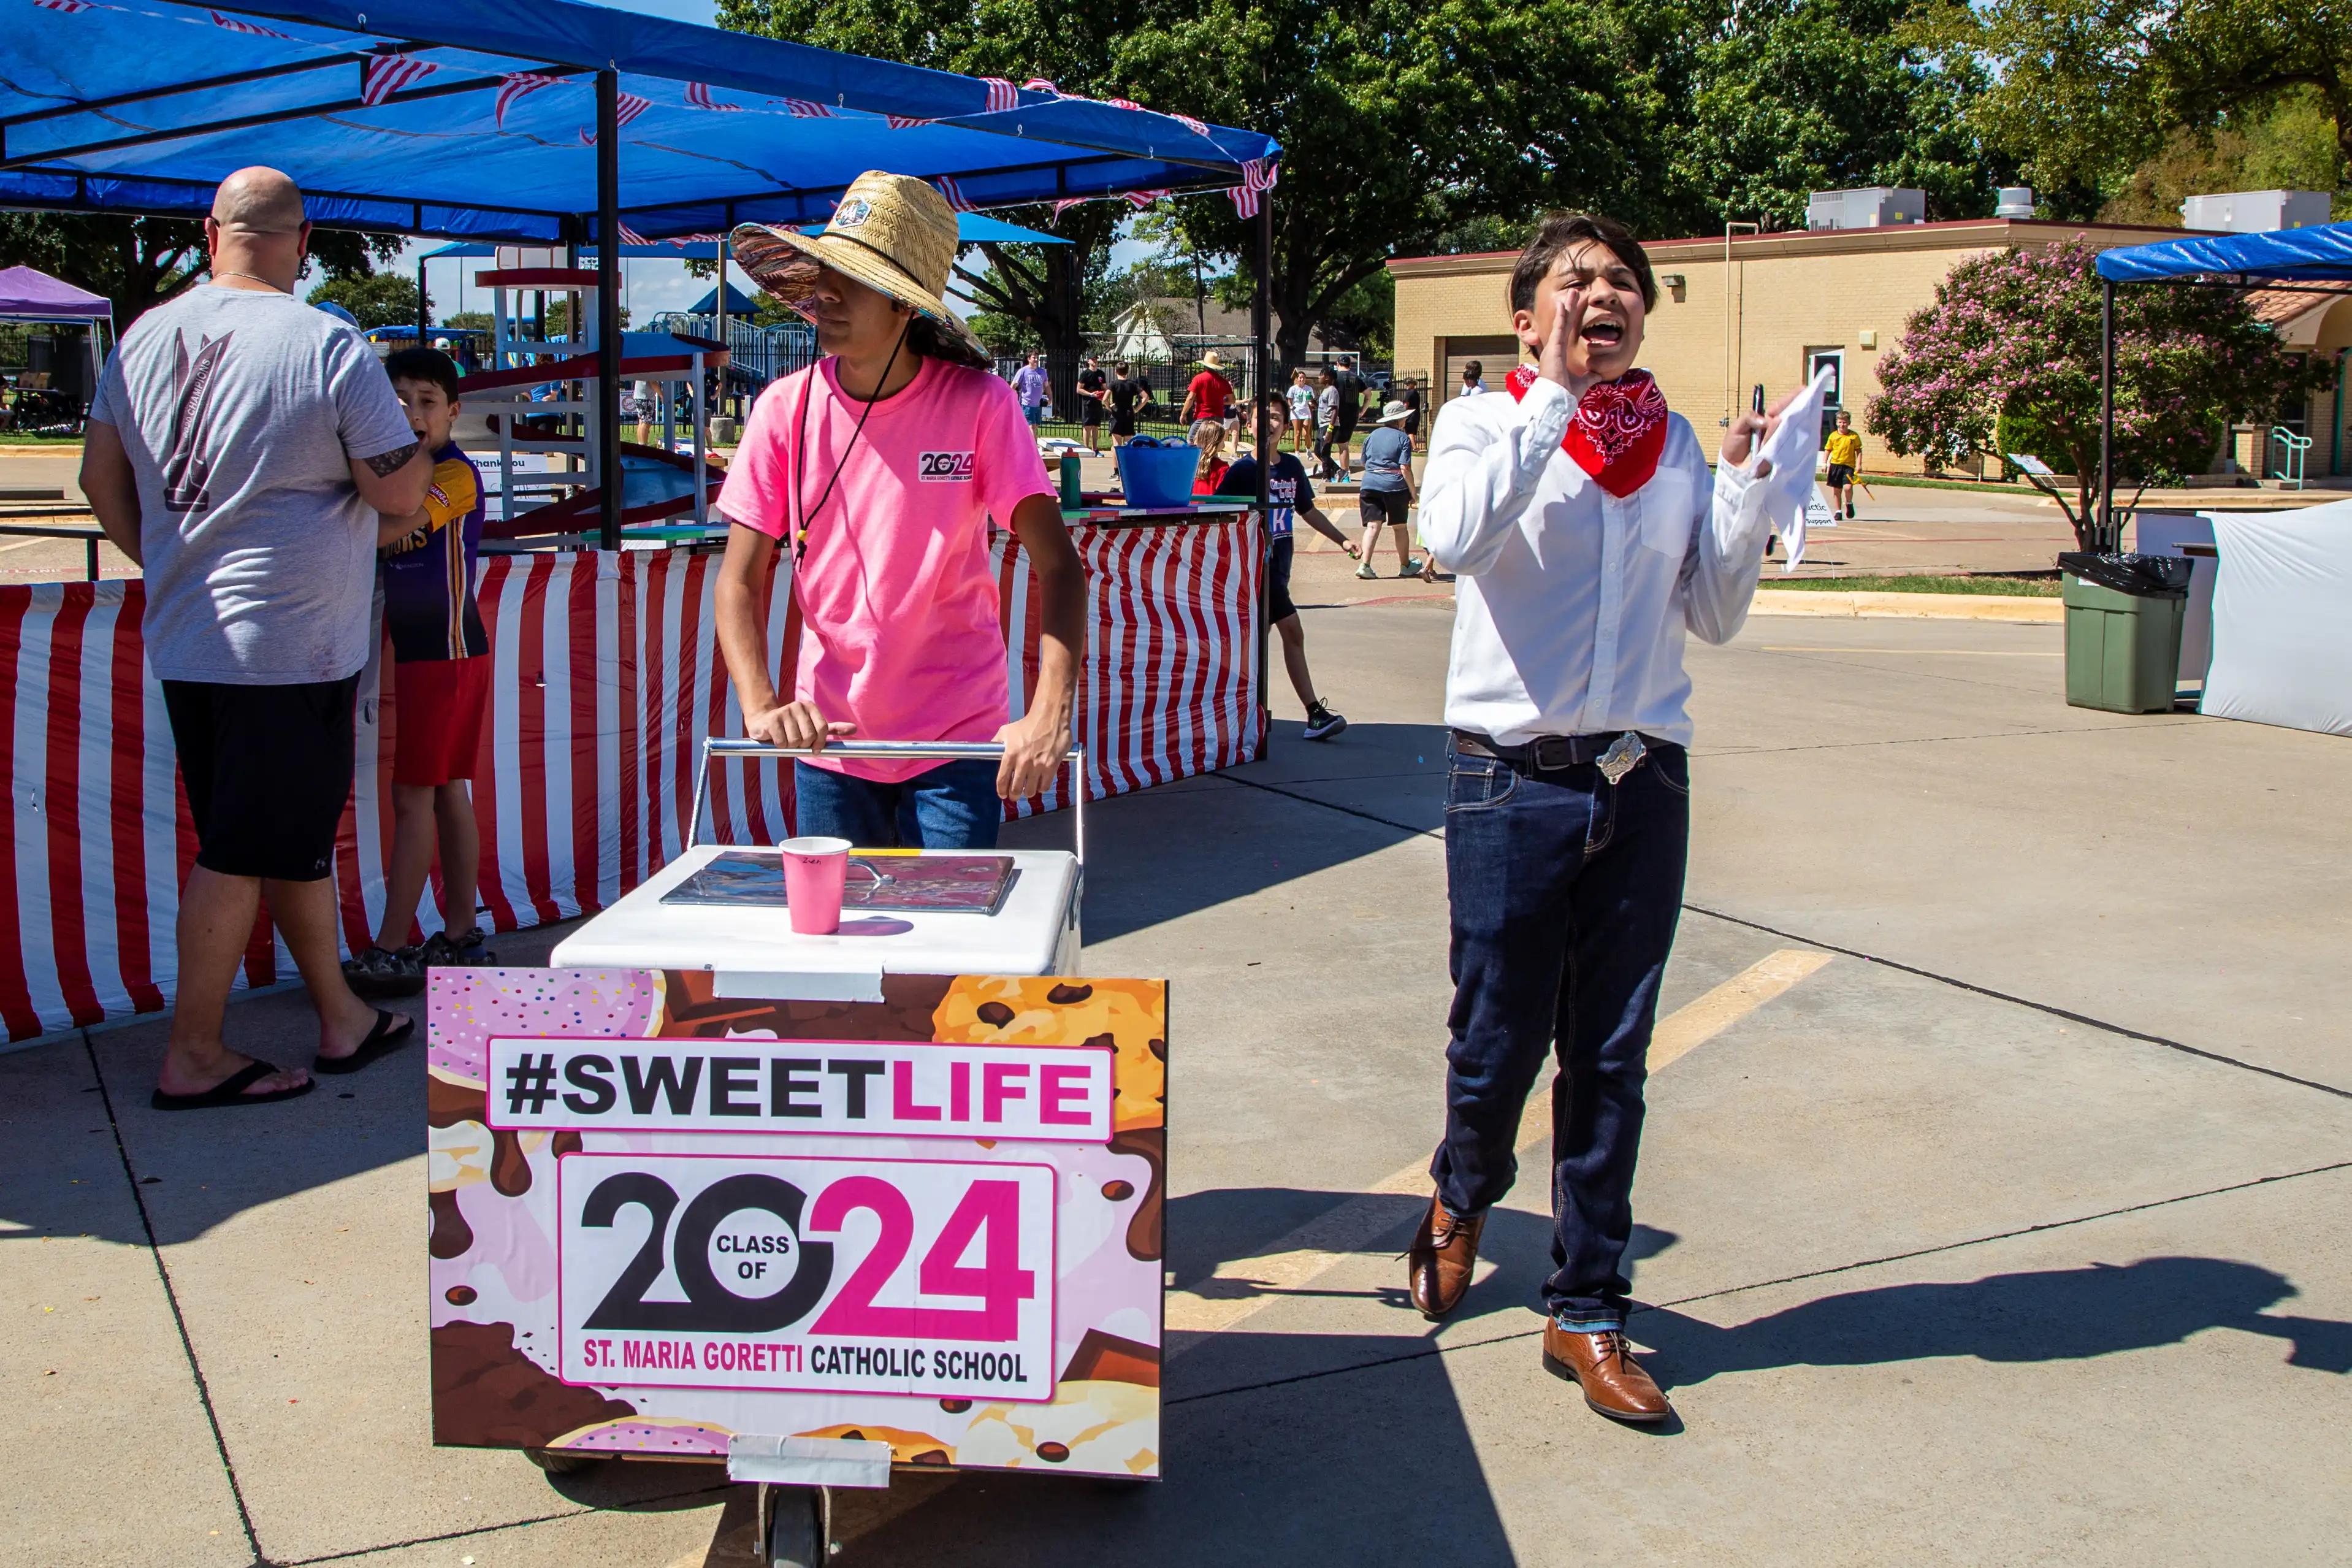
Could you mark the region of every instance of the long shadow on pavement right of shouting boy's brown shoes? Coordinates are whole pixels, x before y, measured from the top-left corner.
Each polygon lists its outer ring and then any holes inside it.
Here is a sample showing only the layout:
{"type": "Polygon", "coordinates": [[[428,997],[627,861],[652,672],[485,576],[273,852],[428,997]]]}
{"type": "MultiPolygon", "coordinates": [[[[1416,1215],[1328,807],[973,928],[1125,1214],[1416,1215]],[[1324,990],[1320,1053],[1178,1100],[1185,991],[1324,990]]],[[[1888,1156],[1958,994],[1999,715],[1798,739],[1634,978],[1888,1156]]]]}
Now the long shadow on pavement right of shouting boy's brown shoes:
{"type": "Polygon", "coordinates": [[[2274,1269],[2227,1258],[2140,1258],[1966,1284],[1851,1291],[1717,1328],[1658,1307],[1635,1319],[1668,1387],[1776,1366],[1877,1366],[1929,1356],[2079,1361],[2239,1328],[2291,1345],[2286,1363],[2352,1373],[2352,1324],[2272,1316],[2296,1295],[2274,1269]]]}

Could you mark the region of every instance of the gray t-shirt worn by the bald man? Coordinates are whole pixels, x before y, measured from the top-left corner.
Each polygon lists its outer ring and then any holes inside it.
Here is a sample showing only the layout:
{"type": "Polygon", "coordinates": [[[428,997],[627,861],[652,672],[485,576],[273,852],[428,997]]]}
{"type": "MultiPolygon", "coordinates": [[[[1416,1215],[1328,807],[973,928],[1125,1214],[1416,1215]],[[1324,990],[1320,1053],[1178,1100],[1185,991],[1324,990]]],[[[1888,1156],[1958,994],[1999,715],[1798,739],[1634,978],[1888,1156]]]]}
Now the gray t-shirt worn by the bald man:
{"type": "Polygon", "coordinates": [[[158,679],[285,686],[367,663],[376,512],[348,458],[416,435],[358,329],[202,284],[122,334],[89,418],[139,477],[158,679]]]}

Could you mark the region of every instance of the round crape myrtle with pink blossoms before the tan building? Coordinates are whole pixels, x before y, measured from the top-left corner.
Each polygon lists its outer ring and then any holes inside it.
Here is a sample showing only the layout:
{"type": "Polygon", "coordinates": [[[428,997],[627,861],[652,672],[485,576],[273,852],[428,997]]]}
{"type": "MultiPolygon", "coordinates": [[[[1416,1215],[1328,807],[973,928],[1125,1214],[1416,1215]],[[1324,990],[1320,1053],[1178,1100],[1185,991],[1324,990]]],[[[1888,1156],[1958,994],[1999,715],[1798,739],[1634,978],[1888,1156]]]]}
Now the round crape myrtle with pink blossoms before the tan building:
{"type": "MultiPolygon", "coordinates": [[[[1952,268],[1936,303],[1879,360],[1870,430],[1889,451],[1964,463],[2011,451],[2074,475],[2051,491],[2084,550],[2117,548],[2093,517],[2098,487],[2100,284],[2086,240],[1992,252],[1952,268]]],[[[2204,473],[2234,418],[2270,423],[2331,367],[2286,353],[2239,289],[2126,284],[2114,292],[2114,480],[2204,473]]]]}

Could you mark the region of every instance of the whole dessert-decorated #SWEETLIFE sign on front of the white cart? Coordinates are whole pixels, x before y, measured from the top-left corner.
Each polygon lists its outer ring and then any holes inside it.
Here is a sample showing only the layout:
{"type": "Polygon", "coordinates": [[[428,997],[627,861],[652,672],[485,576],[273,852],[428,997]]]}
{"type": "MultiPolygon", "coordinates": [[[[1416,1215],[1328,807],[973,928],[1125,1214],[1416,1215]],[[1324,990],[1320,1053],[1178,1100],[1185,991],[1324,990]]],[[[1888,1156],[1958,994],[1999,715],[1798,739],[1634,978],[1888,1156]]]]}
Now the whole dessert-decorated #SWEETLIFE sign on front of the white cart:
{"type": "Polygon", "coordinates": [[[430,980],[433,1434],[1160,1474],[1167,987],[430,980]]]}

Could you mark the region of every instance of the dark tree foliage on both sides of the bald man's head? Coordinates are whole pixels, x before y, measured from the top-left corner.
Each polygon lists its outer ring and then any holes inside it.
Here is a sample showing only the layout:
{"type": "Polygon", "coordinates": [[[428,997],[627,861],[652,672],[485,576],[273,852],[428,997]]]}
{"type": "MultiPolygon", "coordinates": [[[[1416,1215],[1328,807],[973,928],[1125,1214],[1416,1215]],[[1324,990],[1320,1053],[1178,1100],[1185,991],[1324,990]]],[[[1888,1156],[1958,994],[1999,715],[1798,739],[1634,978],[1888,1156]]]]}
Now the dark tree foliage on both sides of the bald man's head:
{"type": "MultiPolygon", "coordinates": [[[[310,270],[365,277],[400,254],[400,235],[310,230],[310,270]]],[[[0,266],[31,266],[103,294],[115,331],[205,275],[205,226],[191,219],[0,212],[0,266]]],[[[409,317],[416,320],[416,317],[409,317]]]]}

